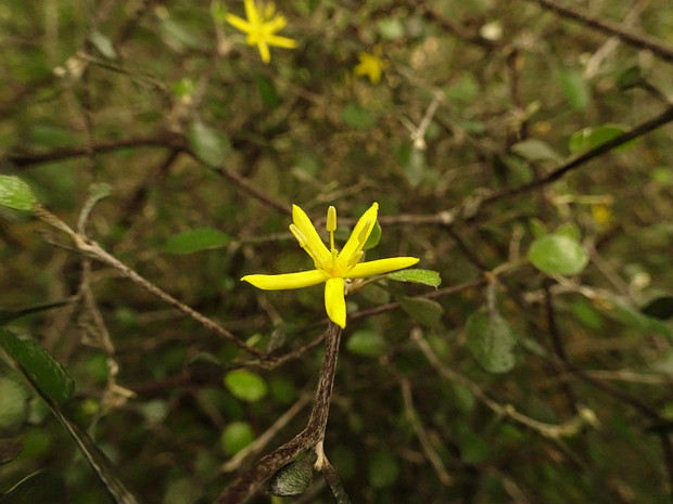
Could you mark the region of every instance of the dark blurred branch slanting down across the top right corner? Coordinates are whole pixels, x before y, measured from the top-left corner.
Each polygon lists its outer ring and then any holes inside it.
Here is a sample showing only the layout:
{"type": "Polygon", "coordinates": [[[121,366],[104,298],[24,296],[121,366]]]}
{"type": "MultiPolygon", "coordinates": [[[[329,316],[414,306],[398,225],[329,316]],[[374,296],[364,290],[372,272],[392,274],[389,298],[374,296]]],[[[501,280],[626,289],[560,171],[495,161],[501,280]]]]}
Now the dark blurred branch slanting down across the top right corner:
{"type": "Polygon", "coordinates": [[[648,49],[662,60],[673,63],[673,47],[661,39],[644,35],[623,25],[606,18],[594,17],[579,9],[559,5],[551,0],[529,0],[537,3],[543,9],[551,11],[561,17],[581,23],[598,31],[619,38],[620,40],[638,49],[648,49]]]}

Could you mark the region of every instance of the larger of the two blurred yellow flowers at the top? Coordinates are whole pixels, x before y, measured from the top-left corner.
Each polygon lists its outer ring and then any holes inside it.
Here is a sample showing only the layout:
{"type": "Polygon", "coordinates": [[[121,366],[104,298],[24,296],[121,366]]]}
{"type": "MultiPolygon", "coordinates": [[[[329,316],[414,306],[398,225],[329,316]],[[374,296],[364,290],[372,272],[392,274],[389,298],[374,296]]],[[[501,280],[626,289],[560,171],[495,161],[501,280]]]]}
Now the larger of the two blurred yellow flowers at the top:
{"type": "Polygon", "coordinates": [[[244,0],[244,3],[247,21],[233,14],[227,14],[225,18],[230,25],[247,34],[247,44],[259,48],[259,54],[264,63],[271,61],[269,46],[287,49],[296,48],[295,40],[276,35],[276,33],[285,27],[288,22],[284,16],[276,15],[274,3],[264,5],[263,11],[257,8],[255,0],[244,0]]]}

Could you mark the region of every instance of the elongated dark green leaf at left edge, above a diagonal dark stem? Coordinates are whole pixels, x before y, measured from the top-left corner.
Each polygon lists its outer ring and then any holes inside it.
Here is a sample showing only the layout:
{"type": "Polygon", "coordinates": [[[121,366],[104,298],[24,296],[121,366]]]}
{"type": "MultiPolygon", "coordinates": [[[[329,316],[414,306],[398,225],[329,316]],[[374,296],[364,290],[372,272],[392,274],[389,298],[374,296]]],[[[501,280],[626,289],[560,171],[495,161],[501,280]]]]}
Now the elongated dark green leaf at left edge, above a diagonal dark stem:
{"type": "Polygon", "coordinates": [[[75,382],[51,354],[31,339],[21,339],[0,327],[0,347],[14,359],[33,385],[52,401],[63,404],[75,390],[75,382]]]}

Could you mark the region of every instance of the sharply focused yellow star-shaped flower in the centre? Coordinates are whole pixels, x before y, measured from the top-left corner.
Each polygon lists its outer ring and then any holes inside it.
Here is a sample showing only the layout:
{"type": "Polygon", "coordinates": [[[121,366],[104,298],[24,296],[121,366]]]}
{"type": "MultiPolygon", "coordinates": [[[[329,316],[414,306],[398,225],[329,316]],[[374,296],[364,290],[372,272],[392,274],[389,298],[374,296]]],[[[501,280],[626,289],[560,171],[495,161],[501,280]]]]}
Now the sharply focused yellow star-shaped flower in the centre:
{"type": "Polygon", "coordinates": [[[334,230],[336,229],[336,209],[327,210],[327,231],[330,233],[330,248],[328,249],[316,228],[296,205],[292,205],[292,220],[290,231],[300,243],[300,246],[313,259],[316,269],[287,274],[251,274],[241,280],[250,282],[255,287],[265,290],[283,288],[301,288],[325,282],[325,308],[332,322],[346,326],[345,280],[365,279],[377,274],[390,273],[416,264],[416,257],[392,257],[369,262],[359,262],[365,253],[363,247],[371,234],[377,222],[379,205],[374,203],[360,217],[351,233],[351,237],[341,249],[334,248],[334,230]]]}

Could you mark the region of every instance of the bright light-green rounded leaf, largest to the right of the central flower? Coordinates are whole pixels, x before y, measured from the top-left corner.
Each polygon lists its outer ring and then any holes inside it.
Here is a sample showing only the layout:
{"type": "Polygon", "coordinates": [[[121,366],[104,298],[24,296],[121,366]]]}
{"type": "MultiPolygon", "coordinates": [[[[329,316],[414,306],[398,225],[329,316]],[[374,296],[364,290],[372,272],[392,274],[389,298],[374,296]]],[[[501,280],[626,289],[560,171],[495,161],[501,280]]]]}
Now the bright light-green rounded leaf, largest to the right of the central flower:
{"type": "Polygon", "coordinates": [[[588,255],[580,243],[558,234],[535,240],[529,248],[528,258],[535,268],[547,274],[577,274],[588,263],[588,255]]]}

